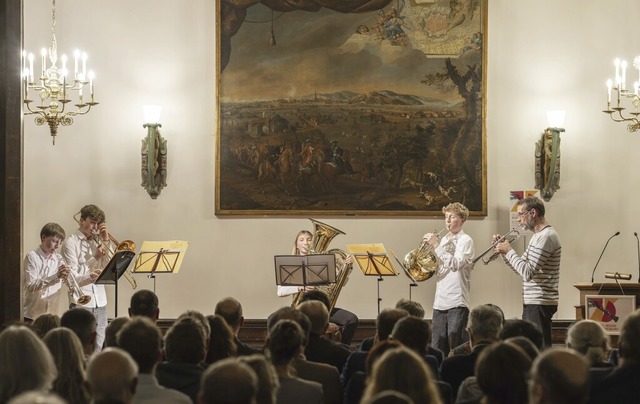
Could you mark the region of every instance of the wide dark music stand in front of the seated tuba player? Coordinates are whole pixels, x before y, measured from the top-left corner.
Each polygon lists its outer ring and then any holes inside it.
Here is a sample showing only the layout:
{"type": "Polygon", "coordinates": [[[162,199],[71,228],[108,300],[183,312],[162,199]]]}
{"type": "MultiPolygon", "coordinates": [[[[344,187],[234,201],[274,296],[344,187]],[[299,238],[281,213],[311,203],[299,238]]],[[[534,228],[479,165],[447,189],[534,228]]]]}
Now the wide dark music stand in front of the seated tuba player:
{"type": "Polygon", "coordinates": [[[336,283],[334,254],[276,255],[273,259],[277,285],[305,288],[336,283]]]}

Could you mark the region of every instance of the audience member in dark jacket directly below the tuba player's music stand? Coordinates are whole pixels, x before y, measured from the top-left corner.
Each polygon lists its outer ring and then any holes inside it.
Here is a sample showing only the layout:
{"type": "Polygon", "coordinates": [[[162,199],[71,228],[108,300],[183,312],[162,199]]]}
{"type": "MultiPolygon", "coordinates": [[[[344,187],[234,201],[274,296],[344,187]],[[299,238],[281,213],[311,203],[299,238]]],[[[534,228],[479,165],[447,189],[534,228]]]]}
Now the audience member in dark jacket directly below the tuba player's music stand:
{"type": "Polygon", "coordinates": [[[320,301],[307,300],[298,305],[298,310],[306,314],[311,321],[311,332],[307,347],[304,350],[306,358],[313,362],[327,363],[335,366],[338,373],[342,372],[349,354],[349,348],[324,337],[329,325],[329,311],[320,301]]]}

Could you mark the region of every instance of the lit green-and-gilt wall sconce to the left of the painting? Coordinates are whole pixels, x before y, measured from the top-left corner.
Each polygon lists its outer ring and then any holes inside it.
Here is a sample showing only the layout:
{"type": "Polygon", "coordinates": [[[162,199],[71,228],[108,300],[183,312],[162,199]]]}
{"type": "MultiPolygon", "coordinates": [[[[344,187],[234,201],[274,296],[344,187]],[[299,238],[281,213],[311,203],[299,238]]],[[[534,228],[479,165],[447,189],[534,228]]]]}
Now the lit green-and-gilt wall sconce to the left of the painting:
{"type": "Polygon", "coordinates": [[[162,127],[158,105],[145,105],[143,108],[147,137],[142,139],[142,187],[147,190],[152,199],[160,195],[162,188],[167,186],[167,141],[160,136],[162,127]]]}

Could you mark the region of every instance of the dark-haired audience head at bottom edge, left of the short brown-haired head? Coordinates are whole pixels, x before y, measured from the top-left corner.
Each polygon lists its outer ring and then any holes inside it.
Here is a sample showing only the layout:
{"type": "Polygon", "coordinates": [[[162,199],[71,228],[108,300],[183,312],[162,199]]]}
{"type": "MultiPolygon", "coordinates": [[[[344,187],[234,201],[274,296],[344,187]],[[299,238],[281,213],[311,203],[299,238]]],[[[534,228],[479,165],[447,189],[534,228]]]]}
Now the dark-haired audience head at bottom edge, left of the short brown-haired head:
{"type": "Polygon", "coordinates": [[[531,358],[517,345],[497,342],[480,352],[475,375],[492,404],[526,404],[527,376],[531,358]]]}

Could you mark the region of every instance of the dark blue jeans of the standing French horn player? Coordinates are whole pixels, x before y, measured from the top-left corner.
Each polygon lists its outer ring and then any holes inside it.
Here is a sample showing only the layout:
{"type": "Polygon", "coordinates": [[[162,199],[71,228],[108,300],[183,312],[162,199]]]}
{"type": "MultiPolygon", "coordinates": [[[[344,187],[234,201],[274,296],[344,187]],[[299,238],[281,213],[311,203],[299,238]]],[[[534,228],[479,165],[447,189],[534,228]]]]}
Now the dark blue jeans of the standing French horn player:
{"type": "Polygon", "coordinates": [[[469,340],[466,329],[468,320],[467,307],[455,307],[449,310],[434,309],[431,320],[431,346],[444,352],[446,358],[449,351],[469,340]]]}

